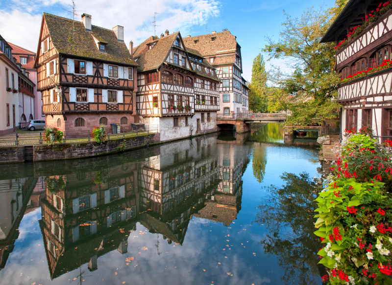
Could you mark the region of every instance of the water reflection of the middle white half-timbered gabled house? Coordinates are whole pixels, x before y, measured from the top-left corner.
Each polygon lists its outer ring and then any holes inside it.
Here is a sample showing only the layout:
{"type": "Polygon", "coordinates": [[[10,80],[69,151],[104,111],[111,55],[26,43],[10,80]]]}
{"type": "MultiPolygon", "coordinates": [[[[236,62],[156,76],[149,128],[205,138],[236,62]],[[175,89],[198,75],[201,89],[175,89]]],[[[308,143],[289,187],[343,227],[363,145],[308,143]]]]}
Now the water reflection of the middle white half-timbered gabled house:
{"type": "Polygon", "coordinates": [[[215,137],[163,145],[139,169],[140,208],[145,212],[140,221],[150,232],[161,233],[169,243],[184,241],[192,214],[204,207],[206,194],[219,183],[215,145],[215,137]]]}

